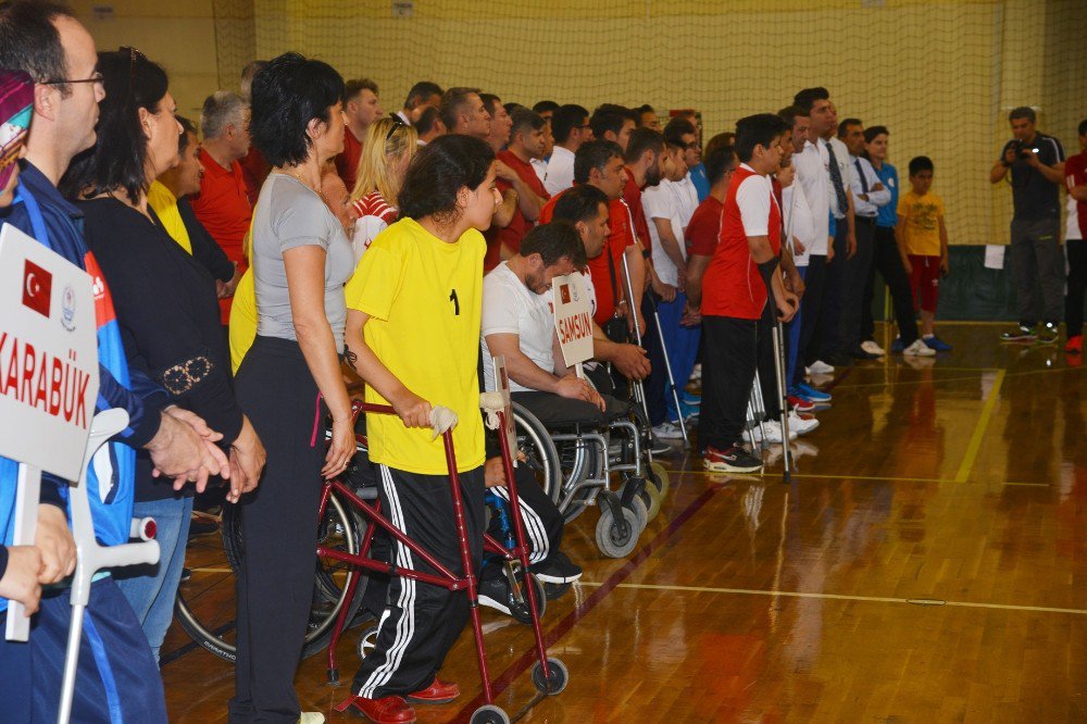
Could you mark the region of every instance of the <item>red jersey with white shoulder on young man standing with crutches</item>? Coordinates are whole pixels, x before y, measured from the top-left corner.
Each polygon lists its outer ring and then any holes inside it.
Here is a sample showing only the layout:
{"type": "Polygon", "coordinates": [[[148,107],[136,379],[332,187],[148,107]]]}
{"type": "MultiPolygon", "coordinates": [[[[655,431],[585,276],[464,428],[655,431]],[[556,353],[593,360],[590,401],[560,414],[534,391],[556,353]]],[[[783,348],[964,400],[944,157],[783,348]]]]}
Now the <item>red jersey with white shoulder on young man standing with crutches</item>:
{"type": "Polygon", "coordinates": [[[721,234],[702,278],[702,314],[758,320],[766,305],[766,284],[751,259],[748,237],[769,236],[782,251],[782,210],[770,178],[741,164],[728,184],[721,234]]]}

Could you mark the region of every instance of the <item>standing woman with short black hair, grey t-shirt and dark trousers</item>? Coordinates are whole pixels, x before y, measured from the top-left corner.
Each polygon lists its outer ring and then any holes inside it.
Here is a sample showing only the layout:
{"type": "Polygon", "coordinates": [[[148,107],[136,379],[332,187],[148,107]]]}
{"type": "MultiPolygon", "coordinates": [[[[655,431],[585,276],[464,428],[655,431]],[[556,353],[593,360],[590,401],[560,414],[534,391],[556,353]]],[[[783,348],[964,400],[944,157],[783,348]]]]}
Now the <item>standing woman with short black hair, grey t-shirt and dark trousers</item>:
{"type": "MultiPolygon", "coordinates": [[[[253,214],[257,339],[236,384],[268,460],[260,489],[241,502],[232,722],[300,719],[292,682],[313,590],[321,478],[342,473],[354,454],[340,372],[343,283],[354,257],[320,192],[322,170],[343,150],[342,99],[339,74],[298,53],[253,78],[250,134],[273,168],[253,214]]],[[[305,712],[301,721],[324,717],[305,712]]]]}

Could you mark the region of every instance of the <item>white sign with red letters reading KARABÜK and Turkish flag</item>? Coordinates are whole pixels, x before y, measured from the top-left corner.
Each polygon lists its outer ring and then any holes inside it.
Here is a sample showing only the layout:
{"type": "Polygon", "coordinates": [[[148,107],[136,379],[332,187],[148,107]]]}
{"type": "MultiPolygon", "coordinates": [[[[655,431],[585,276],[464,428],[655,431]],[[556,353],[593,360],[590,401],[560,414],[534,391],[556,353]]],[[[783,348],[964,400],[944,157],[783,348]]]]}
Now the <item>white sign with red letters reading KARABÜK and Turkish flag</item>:
{"type": "Polygon", "coordinates": [[[90,275],[0,230],[0,454],[78,480],[98,398],[90,275]]]}

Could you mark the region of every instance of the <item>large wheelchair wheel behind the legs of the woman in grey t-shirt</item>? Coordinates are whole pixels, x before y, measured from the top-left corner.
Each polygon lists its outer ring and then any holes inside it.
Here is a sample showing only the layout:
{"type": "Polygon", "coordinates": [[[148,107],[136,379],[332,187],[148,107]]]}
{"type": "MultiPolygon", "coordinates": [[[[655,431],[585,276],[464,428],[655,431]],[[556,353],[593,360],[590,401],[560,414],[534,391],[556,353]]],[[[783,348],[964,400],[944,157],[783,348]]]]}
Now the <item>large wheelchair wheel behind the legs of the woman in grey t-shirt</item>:
{"type": "MultiPolygon", "coordinates": [[[[359,552],[362,526],[337,496],[329,496],[320,526],[318,542],[347,553],[359,552]]],[[[241,515],[237,505],[223,507],[222,529],[222,546],[189,545],[186,565],[192,570],[192,577],[178,587],[174,614],[192,640],[233,663],[238,656],[235,647],[235,576],[245,556],[241,515]]],[[[349,607],[347,621],[350,623],[354,619],[362,604],[366,578],[359,582],[351,601],[345,599],[347,586],[357,575],[360,573],[346,563],[316,558],[303,658],[327,646],[343,606],[349,607]]]]}

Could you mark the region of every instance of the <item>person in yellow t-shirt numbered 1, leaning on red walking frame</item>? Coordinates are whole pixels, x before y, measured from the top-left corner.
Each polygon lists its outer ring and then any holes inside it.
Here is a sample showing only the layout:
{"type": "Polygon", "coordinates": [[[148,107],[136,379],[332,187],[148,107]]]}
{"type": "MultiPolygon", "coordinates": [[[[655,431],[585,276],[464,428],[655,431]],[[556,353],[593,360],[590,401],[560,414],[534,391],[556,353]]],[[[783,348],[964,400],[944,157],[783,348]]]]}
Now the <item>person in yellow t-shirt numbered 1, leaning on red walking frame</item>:
{"type": "MultiPolygon", "coordinates": [[[[401,220],[377,235],[347,285],[347,358],[366,380],[366,402],[400,420],[366,415],[383,510],[453,572],[462,572],[449,471],[430,412],[457,413],[453,428],[464,516],[476,570],[483,554],[484,432],[479,414],[482,230],[502,197],[495,153],[470,136],[425,146],[400,189],[401,220]]],[[[434,573],[393,545],[400,565],[434,573]]],[[[375,649],[354,677],[353,706],[379,723],[414,722],[408,701],[459,696],[438,670],[468,617],[464,591],[393,577],[375,649]],[[407,701],[405,701],[407,699],[407,701]]]]}

